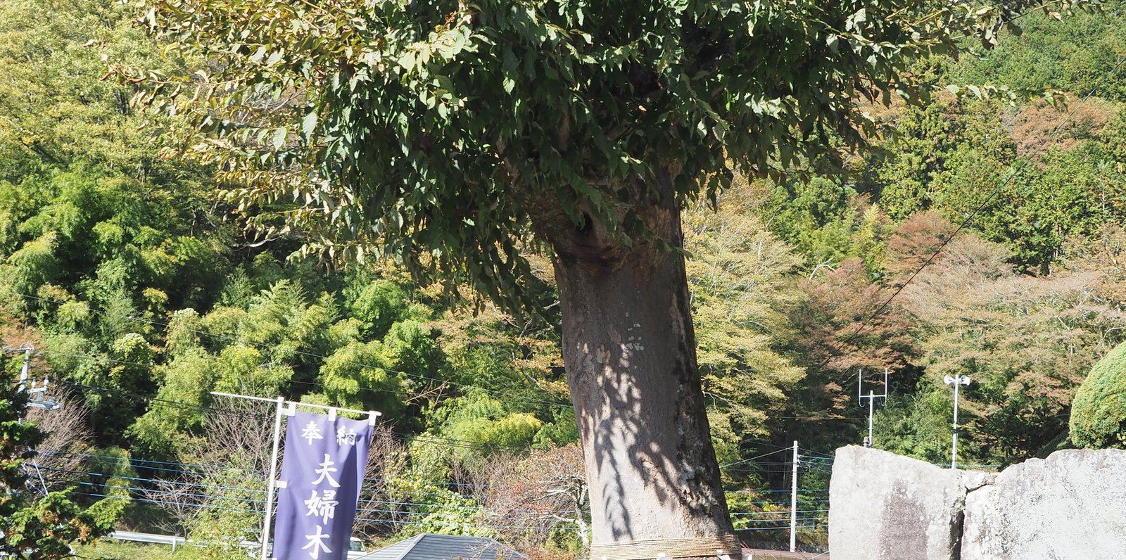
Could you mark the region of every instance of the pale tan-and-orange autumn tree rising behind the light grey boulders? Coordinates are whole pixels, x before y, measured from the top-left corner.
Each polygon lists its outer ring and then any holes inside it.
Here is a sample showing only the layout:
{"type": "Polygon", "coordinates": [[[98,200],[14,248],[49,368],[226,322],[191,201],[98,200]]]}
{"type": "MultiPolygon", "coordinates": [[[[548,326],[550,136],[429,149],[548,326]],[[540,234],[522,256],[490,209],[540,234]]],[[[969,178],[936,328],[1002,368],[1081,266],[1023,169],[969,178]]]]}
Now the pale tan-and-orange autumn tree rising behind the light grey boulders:
{"type": "Polygon", "coordinates": [[[974,380],[963,392],[962,418],[967,458],[982,461],[1030,457],[1065,431],[1092,354],[1118,340],[1124,317],[1091,298],[1098,276],[1020,277],[1007,256],[1002,246],[959,236],[904,290],[919,320],[927,368],[920,385],[940,387],[954,374],[974,380]]]}

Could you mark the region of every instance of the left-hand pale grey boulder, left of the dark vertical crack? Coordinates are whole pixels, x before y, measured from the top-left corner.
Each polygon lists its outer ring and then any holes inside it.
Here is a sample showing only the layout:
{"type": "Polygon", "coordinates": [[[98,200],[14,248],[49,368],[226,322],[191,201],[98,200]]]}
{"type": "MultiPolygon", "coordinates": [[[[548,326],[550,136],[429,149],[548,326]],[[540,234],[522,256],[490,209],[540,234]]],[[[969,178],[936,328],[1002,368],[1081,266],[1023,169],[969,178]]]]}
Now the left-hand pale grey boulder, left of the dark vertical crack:
{"type": "Polygon", "coordinates": [[[837,450],[829,484],[833,560],[957,560],[967,489],[991,478],[856,445],[837,450]]]}

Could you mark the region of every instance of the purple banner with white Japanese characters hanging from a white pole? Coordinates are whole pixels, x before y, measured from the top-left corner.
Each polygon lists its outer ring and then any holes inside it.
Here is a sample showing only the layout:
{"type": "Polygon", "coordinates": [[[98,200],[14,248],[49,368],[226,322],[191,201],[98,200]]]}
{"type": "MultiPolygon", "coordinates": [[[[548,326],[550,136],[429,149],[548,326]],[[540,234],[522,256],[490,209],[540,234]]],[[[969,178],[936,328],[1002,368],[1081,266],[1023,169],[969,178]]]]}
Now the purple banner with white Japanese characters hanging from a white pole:
{"type": "Polygon", "coordinates": [[[295,413],[285,432],[277,560],[345,560],[372,440],[367,421],[295,413]]]}

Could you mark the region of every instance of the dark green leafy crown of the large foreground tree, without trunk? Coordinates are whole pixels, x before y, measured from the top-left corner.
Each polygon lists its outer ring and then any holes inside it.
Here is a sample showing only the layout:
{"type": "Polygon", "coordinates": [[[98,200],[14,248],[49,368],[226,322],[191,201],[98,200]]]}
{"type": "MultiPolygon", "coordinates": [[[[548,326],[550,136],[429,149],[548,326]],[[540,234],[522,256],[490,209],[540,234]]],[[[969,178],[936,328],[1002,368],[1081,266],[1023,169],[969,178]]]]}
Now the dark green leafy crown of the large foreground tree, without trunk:
{"type": "MultiPolygon", "coordinates": [[[[170,49],[215,63],[193,76],[119,71],[212,138],[179,145],[223,162],[245,184],[230,192],[243,209],[292,197],[302,211],[284,217],[314,233],[306,251],[392,255],[516,310],[529,220],[542,235],[588,223],[643,235],[635,209],[655,178],[680,207],[726,186],[729,159],[768,173],[835,138],[860,144],[869,121],[852,99],[926,96],[911,61],[965,34],[995,43],[1033,4],[143,6],[170,49]]],[[[259,218],[278,229],[277,214],[259,218]]]]}

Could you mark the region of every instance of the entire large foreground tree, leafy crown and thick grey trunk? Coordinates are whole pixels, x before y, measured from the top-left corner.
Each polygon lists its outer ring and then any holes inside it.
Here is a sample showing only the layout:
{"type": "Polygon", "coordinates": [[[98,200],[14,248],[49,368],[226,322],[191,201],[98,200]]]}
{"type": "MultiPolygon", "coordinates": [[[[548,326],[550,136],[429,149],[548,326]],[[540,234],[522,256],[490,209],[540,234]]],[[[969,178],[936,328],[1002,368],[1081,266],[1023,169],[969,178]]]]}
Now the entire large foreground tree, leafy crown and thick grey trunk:
{"type": "MultiPolygon", "coordinates": [[[[1064,0],[1056,6],[1071,6],[1064,0]]],[[[696,364],[681,209],[864,142],[910,64],[1025,0],[148,0],[200,61],[148,80],[267,235],[392,256],[509,309],[546,250],[595,557],[732,548],[696,364]],[[202,133],[202,134],[200,134],[202,133]],[[295,206],[279,204],[292,198],[295,206]]],[[[181,130],[182,132],[182,130],[181,130]]]]}

